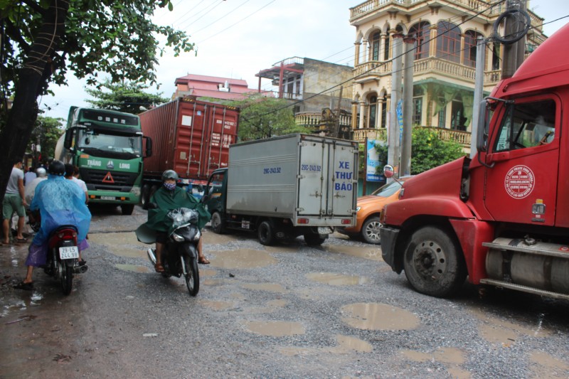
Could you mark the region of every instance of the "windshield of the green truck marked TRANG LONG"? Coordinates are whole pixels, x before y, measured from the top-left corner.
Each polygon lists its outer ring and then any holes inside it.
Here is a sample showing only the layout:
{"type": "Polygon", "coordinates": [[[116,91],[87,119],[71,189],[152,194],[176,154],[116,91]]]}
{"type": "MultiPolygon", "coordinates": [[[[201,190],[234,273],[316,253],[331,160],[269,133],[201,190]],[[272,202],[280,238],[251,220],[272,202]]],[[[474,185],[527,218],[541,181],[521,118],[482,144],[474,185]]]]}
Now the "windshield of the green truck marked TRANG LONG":
{"type": "Polygon", "coordinates": [[[82,129],[78,132],[77,147],[95,156],[134,159],[141,156],[142,137],[139,134],[110,134],[106,131],[103,134],[93,129],[82,129]]]}

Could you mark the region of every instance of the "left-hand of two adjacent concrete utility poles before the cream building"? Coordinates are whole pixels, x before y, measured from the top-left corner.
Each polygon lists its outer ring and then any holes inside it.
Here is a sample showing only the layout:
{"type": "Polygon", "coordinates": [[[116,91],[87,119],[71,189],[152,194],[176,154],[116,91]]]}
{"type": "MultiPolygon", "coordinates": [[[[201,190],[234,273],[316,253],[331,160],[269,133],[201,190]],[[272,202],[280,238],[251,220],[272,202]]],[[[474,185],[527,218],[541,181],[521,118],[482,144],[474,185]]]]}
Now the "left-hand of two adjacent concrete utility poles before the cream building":
{"type": "MultiPolygon", "coordinates": [[[[393,34],[393,48],[391,57],[391,104],[389,107],[389,134],[387,163],[399,172],[399,121],[397,117],[397,104],[401,100],[401,64],[403,60],[403,34],[393,34]]],[[[393,181],[388,178],[388,183],[393,181]]]]}

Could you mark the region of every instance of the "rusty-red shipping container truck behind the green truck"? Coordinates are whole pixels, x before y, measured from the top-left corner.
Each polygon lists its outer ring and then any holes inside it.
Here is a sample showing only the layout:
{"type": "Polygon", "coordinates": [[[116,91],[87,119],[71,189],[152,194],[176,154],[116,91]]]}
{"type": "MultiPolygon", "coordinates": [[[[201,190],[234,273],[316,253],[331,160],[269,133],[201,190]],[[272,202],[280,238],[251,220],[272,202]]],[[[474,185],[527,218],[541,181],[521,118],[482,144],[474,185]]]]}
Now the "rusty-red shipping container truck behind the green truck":
{"type": "Polygon", "coordinates": [[[201,196],[207,179],[227,167],[229,145],[237,142],[239,110],[192,97],[139,114],[144,137],[152,140],[154,154],[144,160],[141,202],[146,208],[164,171],[173,169],[179,185],[201,196]]]}

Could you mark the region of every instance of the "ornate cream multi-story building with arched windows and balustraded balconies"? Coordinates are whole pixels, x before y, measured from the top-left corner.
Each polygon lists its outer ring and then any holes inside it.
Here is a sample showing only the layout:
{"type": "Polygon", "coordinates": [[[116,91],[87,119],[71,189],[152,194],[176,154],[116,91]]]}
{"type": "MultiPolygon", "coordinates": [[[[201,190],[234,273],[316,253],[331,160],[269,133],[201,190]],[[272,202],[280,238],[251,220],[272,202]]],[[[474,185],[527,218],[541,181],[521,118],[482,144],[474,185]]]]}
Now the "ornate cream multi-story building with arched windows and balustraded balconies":
{"type": "MultiPolygon", "coordinates": [[[[528,8],[529,9],[529,8],[528,8]]],[[[353,137],[384,140],[390,112],[393,38],[415,38],[413,125],[470,148],[477,38],[489,38],[506,10],[498,0],[368,0],[350,9],[356,27],[353,137]]],[[[543,18],[528,11],[526,54],[545,41],[543,18]]],[[[491,40],[489,40],[491,41],[491,40]]],[[[413,43],[413,42],[411,42],[413,43]]],[[[504,48],[486,43],[484,93],[501,78],[504,48]]]]}

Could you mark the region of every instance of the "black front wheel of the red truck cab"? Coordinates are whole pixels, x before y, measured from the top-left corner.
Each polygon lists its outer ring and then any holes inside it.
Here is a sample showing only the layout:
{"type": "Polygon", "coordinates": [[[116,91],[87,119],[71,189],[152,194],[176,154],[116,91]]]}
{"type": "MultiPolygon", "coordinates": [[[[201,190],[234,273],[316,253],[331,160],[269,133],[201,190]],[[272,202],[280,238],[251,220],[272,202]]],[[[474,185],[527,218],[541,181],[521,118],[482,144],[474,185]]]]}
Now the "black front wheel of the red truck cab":
{"type": "Polygon", "coordinates": [[[434,297],[451,296],[467,277],[457,242],[444,230],[430,226],[411,236],[403,257],[403,269],[413,288],[434,297]]]}

